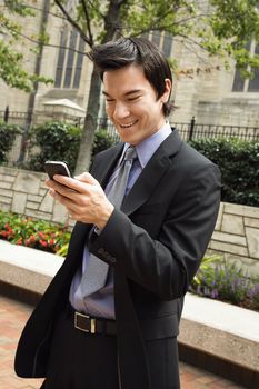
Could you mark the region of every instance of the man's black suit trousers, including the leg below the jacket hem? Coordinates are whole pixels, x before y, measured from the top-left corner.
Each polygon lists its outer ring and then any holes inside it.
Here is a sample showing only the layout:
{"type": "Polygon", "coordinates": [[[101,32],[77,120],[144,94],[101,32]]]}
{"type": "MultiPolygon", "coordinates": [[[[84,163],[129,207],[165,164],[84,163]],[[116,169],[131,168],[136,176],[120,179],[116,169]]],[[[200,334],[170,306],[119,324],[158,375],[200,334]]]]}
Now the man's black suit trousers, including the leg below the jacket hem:
{"type": "MultiPolygon", "coordinates": [[[[147,341],[146,347],[151,389],[179,389],[177,338],[147,341]]],[[[71,315],[62,312],[41,389],[119,389],[116,336],[80,331],[71,315]]]]}

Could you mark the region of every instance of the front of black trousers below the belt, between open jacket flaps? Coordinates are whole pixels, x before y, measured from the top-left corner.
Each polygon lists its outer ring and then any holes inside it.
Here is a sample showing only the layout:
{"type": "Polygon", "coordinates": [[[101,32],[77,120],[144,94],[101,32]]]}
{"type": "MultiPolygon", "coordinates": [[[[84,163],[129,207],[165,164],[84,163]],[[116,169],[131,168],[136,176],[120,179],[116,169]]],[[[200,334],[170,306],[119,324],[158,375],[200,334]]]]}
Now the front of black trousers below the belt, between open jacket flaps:
{"type": "Polygon", "coordinates": [[[117,338],[89,335],[67,311],[56,323],[42,389],[119,389],[117,338]]]}

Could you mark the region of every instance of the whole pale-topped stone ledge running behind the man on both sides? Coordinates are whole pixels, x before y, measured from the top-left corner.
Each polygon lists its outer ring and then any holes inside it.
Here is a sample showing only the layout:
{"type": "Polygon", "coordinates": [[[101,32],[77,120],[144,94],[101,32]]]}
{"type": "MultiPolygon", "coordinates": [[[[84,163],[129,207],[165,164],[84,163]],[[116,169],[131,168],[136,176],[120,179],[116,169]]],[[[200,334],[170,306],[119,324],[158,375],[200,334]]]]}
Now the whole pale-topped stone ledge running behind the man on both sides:
{"type": "MultiPolygon", "coordinates": [[[[42,295],[63,262],[0,240],[0,281],[42,295]]],[[[259,313],[187,293],[179,343],[259,373],[259,313]]]]}

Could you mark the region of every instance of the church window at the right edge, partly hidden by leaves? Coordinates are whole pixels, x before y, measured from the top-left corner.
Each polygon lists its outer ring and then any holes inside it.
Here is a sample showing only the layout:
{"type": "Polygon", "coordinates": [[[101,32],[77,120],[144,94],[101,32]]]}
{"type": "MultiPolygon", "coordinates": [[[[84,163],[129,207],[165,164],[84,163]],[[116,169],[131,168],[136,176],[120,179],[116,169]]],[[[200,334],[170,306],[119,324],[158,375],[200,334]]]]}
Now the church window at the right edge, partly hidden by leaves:
{"type": "MultiPolygon", "coordinates": [[[[259,44],[256,41],[247,46],[251,54],[259,54],[259,44]]],[[[237,69],[233,79],[232,92],[259,92],[259,69],[253,70],[252,79],[243,79],[237,69]]]]}

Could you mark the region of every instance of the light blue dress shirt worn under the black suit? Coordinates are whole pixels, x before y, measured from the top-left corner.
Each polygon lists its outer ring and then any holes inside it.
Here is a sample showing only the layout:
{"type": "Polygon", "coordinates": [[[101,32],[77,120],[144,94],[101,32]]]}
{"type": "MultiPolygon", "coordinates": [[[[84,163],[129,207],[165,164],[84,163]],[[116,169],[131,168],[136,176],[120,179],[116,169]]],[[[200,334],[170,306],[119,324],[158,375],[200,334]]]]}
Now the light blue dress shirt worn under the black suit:
{"type": "MultiPolygon", "coordinates": [[[[171,128],[169,123],[166,122],[165,126],[159,131],[155,132],[152,136],[150,136],[149,138],[145,139],[141,143],[136,146],[138,159],[135,161],[131,168],[129,180],[127,183],[126,194],[128,194],[128,192],[135,184],[137,178],[141,173],[142,169],[146,167],[146,164],[148,163],[148,161],[150,160],[155,151],[159,148],[159,146],[163,142],[163,140],[170,133],[171,133],[171,128]]],[[[123,152],[121,154],[121,158],[114,171],[120,166],[128,147],[129,144],[126,143],[123,152]]],[[[110,178],[110,181],[112,179],[112,176],[110,178]]],[[[109,182],[106,188],[107,192],[109,192],[109,182]]],[[[112,268],[109,269],[107,283],[102,289],[100,289],[99,291],[97,291],[91,296],[83,297],[83,290],[81,289],[81,278],[84,271],[87,271],[88,262],[89,262],[89,250],[86,245],[83,258],[82,258],[82,267],[78,269],[71,283],[70,296],[69,296],[70,303],[79,312],[84,312],[93,317],[114,319],[116,316],[114,316],[114,297],[113,297],[113,269],[112,268]]]]}

